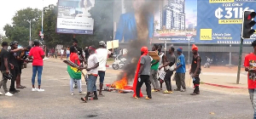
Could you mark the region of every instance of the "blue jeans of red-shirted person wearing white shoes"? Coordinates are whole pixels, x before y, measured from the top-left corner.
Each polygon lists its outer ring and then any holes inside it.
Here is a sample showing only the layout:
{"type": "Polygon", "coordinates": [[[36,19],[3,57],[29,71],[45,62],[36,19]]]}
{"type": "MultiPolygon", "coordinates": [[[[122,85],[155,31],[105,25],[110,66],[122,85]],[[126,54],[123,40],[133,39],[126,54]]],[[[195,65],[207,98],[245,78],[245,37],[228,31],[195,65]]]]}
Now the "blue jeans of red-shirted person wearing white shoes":
{"type": "Polygon", "coordinates": [[[33,65],[32,71],[33,71],[32,85],[35,85],[35,78],[36,78],[37,73],[38,73],[38,85],[41,85],[43,66],[42,65],[33,65]]]}

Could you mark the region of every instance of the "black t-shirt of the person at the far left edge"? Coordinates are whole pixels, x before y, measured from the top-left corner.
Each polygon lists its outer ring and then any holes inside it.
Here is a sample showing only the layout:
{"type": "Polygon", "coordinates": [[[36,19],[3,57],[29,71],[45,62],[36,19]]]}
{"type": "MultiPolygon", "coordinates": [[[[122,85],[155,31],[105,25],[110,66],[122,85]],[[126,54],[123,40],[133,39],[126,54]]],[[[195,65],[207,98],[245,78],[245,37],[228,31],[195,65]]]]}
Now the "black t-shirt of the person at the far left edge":
{"type": "Polygon", "coordinates": [[[9,70],[10,70],[10,65],[9,65],[9,52],[2,48],[1,53],[0,53],[0,71],[6,71],[5,65],[4,65],[4,59],[7,58],[8,60],[8,66],[9,66],[9,70]]]}

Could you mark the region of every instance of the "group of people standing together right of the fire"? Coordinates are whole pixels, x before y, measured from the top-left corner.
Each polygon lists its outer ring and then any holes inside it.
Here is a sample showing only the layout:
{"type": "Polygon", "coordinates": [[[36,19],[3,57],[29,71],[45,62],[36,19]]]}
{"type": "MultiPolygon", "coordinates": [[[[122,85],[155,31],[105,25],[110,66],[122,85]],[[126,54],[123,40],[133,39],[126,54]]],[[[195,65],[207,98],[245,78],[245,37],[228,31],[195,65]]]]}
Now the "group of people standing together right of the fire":
{"type": "MultiPolygon", "coordinates": [[[[133,97],[139,99],[143,97],[140,92],[143,83],[146,85],[147,97],[146,99],[152,99],[152,92],[160,92],[162,90],[162,84],[166,82],[166,91],[163,94],[172,94],[171,77],[174,74],[177,88],[174,91],[185,92],[185,57],[183,55],[183,48],[177,48],[177,58],[174,54],[175,49],[170,48],[169,54],[166,56],[162,51],[161,45],[154,44],[152,52],[159,55],[160,59],[155,59],[149,56],[148,48],[143,47],[141,49],[142,56],[140,57],[137,65],[137,73],[134,79],[135,94],[133,97]],[[153,89],[151,90],[151,84],[153,89]]],[[[192,47],[193,59],[189,74],[191,75],[194,83],[194,92],[191,95],[200,94],[199,84],[201,73],[201,57],[198,54],[198,48],[195,44],[192,47]]]]}

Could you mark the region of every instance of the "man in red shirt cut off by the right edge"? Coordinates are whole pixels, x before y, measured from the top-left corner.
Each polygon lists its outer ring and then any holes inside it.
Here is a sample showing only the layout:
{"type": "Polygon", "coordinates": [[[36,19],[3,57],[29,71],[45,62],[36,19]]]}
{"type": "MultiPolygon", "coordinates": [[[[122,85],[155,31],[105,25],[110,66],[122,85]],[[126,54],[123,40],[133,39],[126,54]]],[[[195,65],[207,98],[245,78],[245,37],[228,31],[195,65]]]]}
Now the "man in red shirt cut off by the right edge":
{"type": "Polygon", "coordinates": [[[252,42],[252,46],[254,52],[251,54],[247,54],[247,56],[244,59],[244,66],[245,71],[248,71],[248,90],[254,109],[253,119],[256,119],[256,40],[252,42]]]}

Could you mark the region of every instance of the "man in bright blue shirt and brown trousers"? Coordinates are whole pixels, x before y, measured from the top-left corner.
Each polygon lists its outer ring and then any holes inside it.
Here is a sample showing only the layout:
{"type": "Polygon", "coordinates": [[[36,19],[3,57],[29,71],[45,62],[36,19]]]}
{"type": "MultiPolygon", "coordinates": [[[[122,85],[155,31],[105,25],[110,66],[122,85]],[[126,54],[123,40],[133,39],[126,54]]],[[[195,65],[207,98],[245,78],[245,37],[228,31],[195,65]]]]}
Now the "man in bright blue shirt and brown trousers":
{"type": "Polygon", "coordinates": [[[175,73],[175,80],[177,88],[174,91],[186,91],[186,84],[185,84],[185,73],[186,73],[186,60],[183,55],[183,48],[177,48],[177,65],[174,71],[175,73]],[[181,89],[183,88],[183,89],[181,89]]]}

